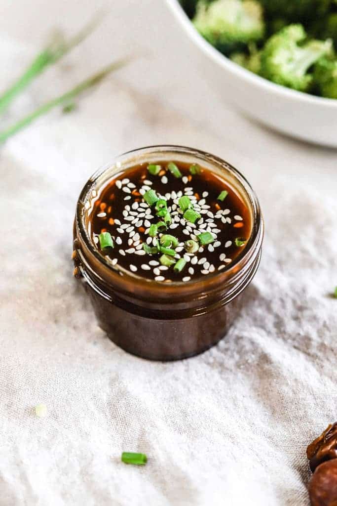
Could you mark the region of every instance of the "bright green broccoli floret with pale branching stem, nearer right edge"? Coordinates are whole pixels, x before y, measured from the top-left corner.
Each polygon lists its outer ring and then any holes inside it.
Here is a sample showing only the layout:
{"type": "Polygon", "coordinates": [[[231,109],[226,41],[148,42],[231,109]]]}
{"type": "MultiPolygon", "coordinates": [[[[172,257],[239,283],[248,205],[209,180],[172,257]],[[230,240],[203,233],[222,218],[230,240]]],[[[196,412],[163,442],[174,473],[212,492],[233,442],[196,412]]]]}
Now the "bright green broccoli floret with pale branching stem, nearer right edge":
{"type": "Polygon", "coordinates": [[[310,40],[303,44],[302,25],[289,25],[272,35],[261,52],[260,74],[278,85],[303,92],[310,91],[313,74],[310,67],[332,51],[330,40],[310,40]],[[300,45],[302,43],[302,45],[300,45]]]}

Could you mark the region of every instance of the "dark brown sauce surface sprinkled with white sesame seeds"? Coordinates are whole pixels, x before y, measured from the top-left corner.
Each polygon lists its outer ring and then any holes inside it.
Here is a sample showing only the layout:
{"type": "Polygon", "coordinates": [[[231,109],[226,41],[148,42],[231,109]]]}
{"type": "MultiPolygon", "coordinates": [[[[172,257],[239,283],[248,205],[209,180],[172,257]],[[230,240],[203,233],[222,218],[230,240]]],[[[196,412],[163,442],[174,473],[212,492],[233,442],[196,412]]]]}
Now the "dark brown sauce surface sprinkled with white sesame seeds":
{"type": "MultiPolygon", "coordinates": [[[[252,230],[249,209],[242,198],[223,179],[220,179],[210,170],[202,168],[201,174],[191,175],[189,172],[190,164],[176,160],[173,161],[179,168],[182,178],[174,177],[167,170],[167,162],[157,161],[156,163],[162,166],[160,175],[155,176],[150,174],[147,168],[148,164],[142,163],[128,169],[121,176],[109,182],[95,202],[90,216],[92,239],[97,244],[99,251],[109,258],[113,264],[118,263],[124,269],[131,270],[144,278],[157,278],[158,281],[193,281],[198,278],[207,277],[208,273],[223,272],[239,256],[242,256],[246,247],[252,230]],[[165,178],[167,178],[166,183],[165,178]],[[126,182],[126,180],[128,181],[126,182]],[[118,188],[117,185],[120,185],[120,183],[116,185],[116,181],[124,182],[122,188],[118,188]],[[151,181],[152,185],[147,185],[146,181],[151,181]],[[199,243],[198,236],[195,234],[196,230],[200,230],[201,232],[210,231],[216,235],[211,246],[203,246],[203,250],[198,250],[194,255],[188,256],[189,261],[181,272],[175,272],[173,266],[168,267],[168,269],[162,269],[159,260],[161,254],[136,253],[136,251],[143,251],[142,242],[146,242],[149,238],[147,233],[149,223],[158,223],[161,220],[161,218],[156,216],[156,210],[153,207],[150,212],[148,205],[142,205],[145,202],[139,193],[139,189],[143,185],[149,186],[149,188],[156,191],[158,196],[161,195],[168,200],[167,205],[170,210],[172,224],[177,224],[178,226],[168,227],[162,233],[173,235],[178,239],[177,257],[184,257],[186,255],[184,242],[191,238],[190,235],[195,235],[196,242],[199,243]],[[128,188],[129,191],[125,191],[125,188],[128,188]],[[183,216],[178,205],[178,192],[181,191],[182,194],[185,194],[185,188],[192,188],[192,190],[188,190],[188,196],[191,200],[195,199],[197,201],[195,208],[199,210],[202,216],[202,222],[197,220],[195,227],[189,222],[180,223],[183,216]],[[223,201],[220,201],[217,197],[223,190],[226,190],[228,195],[223,201]],[[172,199],[172,192],[178,194],[176,199],[172,199]],[[168,199],[168,194],[170,194],[170,199],[168,199]],[[125,199],[126,197],[130,198],[125,199]],[[135,208],[137,205],[135,202],[138,204],[137,208],[135,208]],[[199,209],[198,205],[201,209],[199,209]],[[203,207],[207,205],[209,205],[209,208],[203,207]],[[126,208],[126,206],[129,206],[129,208],[126,208]],[[212,216],[209,213],[212,213],[212,216]],[[148,219],[149,216],[153,218],[148,219]],[[176,217],[179,217],[179,223],[176,217]],[[229,220],[226,221],[227,218],[230,220],[230,223],[228,223],[229,220]],[[214,226],[212,223],[214,223],[214,226]],[[207,225],[205,226],[205,224],[207,225]],[[101,232],[109,232],[111,234],[114,239],[113,249],[106,252],[100,249],[98,235],[101,232]],[[235,244],[235,239],[237,238],[244,239],[246,241],[245,244],[237,246],[235,244]],[[223,255],[225,255],[225,259],[223,255]],[[197,257],[197,263],[195,263],[196,260],[192,260],[193,257],[197,257]],[[199,261],[203,258],[206,258],[206,260],[203,264],[200,264],[199,261]],[[150,265],[149,262],[158,262],[158,265],[150,265]],[[143,268],[142,266],[144,265],[150,267],[150,269],[143,268]]],[[[160,235],[161,233],[158,235],[158,239],[160,235]]],[[[153,246],[152,243],[149,245],[153,246]]],[[[185,258],[187,259],[187,257],[185,258]]]]}

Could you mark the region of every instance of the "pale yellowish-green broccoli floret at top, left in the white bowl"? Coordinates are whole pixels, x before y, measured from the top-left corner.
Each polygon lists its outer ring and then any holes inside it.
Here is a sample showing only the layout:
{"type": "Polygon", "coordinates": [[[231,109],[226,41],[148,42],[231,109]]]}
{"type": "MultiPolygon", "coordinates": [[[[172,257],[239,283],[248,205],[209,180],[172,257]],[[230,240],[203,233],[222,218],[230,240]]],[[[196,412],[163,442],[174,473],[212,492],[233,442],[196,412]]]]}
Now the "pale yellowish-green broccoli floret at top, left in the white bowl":
{"type": "Polygon", "coordinates": [[[200,0],[193,19],[197,30],[223,54],[241,51],[264,35],[262,8],[255,0],[200,0]]]}

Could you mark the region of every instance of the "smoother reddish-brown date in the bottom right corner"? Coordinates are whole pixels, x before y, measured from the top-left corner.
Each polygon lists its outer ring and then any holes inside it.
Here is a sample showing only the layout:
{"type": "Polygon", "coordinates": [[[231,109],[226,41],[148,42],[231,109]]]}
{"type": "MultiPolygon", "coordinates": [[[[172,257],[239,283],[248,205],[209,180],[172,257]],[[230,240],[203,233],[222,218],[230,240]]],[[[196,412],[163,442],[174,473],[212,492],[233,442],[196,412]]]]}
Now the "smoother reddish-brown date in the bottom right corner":
{"type": "Polygon", "coordinates": [[[337,506],[337,459],[317,467],[309,484],[311,506],[337,506]]]}

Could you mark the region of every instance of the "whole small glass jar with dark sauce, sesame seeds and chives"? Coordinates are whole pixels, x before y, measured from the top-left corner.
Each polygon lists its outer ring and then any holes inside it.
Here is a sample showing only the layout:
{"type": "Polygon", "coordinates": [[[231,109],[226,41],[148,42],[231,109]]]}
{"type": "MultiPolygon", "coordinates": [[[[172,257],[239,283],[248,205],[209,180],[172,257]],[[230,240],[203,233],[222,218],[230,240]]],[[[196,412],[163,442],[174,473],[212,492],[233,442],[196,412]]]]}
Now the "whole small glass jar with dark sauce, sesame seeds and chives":
{"type": "Polygon", "coordinates": [[[116,345],[147,359],[183,359],[215,345],[243,309],[262,239],[259,202],[234,167],[192,148],[141,148],[117,157],[84,186],[74,222],[74,275],[116,345]],[[153,173],[149,165],[157,166],[153,173]],[[150,189],[160,200],[151,201],[150,189]],[[188,197],[184,205],[180,196],[188,197]],[[166,227],[156,230],[164,218],[166,227]],[[104,232],[113,247],[102,248],[104,232]],[[186,259],[181,271],[179,258],[186,259]]]}

